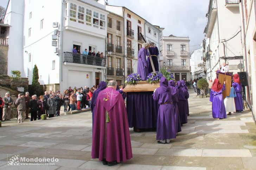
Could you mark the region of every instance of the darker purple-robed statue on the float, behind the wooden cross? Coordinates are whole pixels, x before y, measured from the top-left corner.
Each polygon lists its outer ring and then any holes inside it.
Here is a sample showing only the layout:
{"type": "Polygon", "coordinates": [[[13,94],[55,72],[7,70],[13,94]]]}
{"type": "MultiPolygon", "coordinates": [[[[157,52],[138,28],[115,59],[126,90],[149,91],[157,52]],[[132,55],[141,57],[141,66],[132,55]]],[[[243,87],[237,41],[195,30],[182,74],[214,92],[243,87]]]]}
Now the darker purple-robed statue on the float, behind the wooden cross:
{"type": "MultiPolygon", "coordinates": [[[[159,72],[159,64],[158,64],[158,55],[159,55],[159,51],[158,48],[154,46],[154,43],[150,43],[150,46],[148,48],[149,53],[151,54],[151,58],[155,67],[155,71],[159,72]]],[[[151,66],[151,62],[149,60],[149,57],[147,58],[147,62],[148,62],[148,73],[153,72],[153,68],[151,66]]]]}

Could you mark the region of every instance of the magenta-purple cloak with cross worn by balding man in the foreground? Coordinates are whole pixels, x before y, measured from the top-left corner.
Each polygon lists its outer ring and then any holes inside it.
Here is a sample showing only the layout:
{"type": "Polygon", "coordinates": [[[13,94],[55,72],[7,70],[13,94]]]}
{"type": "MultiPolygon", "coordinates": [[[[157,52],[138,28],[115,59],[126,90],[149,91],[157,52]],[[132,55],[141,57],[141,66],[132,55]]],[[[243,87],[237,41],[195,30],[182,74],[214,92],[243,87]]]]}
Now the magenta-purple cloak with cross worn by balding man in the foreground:
{"type": "Polygon", "coordinates": [[[133,157],[125,104],[111,87],[98,94],[92,133],[92,158],[126,162],[133,157]]]}

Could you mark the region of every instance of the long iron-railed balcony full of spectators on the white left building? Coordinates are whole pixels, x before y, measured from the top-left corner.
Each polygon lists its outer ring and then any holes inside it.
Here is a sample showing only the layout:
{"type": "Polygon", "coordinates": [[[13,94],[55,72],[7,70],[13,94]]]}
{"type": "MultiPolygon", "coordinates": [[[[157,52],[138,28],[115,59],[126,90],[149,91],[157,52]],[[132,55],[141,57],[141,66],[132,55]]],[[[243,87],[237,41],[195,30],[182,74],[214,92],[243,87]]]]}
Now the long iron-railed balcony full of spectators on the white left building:
{"type": "Polygon", "coordinates": [[[106,58],[77,53],[64,52],[65,63],[86,64],[91,66],[105,67],[106,58]]]}

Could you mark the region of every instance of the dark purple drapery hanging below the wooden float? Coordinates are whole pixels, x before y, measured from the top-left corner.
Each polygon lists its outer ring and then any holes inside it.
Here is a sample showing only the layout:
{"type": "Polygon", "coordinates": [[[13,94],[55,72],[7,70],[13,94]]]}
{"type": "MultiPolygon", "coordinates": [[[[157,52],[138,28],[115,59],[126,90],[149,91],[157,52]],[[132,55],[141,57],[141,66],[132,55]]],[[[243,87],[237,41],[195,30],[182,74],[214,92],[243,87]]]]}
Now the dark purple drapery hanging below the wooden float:
{"type": "Polygon", "coordinates": [[[153,91],[127,92],[126,110],[129,127],[156,128],[159,104],[153,100],[153,91]]]}

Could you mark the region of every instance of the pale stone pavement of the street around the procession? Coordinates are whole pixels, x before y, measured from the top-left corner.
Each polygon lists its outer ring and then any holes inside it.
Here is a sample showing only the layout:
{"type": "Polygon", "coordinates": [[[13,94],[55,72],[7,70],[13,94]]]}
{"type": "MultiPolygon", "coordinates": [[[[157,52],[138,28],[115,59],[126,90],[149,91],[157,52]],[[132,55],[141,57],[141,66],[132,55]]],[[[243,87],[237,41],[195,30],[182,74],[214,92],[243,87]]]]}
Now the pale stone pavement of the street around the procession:
{"type": "Polygon", "coordinates": [[[228,115],[224,120],[213,120],[209,98],[196,97],[193,90],[189,106],[188,123],[170,144],[158,144],[154,131],[136,133],[130,129],[133,158],[111,167],[91,159],[90,111],[45,121],[3,122],[0,169],[256,169],[256,125],[249,110],[228,115]],[[55,157],[59,161],[48,166],[7,166],[7,154],[55,157]]]}

